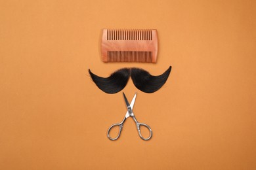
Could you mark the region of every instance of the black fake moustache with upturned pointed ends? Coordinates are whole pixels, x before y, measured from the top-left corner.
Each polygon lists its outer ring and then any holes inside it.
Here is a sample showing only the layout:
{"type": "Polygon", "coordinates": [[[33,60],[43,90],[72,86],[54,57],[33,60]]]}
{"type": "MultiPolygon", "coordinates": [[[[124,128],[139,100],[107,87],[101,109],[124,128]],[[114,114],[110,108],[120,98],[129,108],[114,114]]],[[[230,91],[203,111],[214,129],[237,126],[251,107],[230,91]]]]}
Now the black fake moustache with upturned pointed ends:
{"type": "Polygon", "coordinates": [[[133,80],[133,84],[140,91],[145,93],[154,93],[158,91],[167,81],[171,73],[171,66],[163,74],[152,76],[148,71],[139,68],[123,68],[115,71],[109,77],[101,77],[93,74],[89,69],[89,73],[93,82],[100,90],[105,93],[117,93],[125,88],[129,77],[133,80]]]}

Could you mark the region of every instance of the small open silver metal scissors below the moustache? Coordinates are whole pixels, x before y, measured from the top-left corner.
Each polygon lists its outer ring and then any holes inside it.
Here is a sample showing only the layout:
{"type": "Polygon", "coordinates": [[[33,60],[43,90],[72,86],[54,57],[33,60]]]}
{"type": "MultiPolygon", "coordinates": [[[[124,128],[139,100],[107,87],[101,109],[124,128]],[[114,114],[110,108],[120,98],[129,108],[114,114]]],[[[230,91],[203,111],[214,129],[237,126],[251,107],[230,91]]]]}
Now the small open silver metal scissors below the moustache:
{"type": "Polygon", "coordinates": [[[123,123],[125,122],[125,120],[129,117],[132,117],[133,120],[135,121],[136,123],[136,126],[137,126],[137,130],[138,130],[138,133],[139,133],[139,136],[141,139],[143,139],[144,141],[148,141],[151,137],[152,137],[152,129],[147,125],[147,124],[142,124],[142,123],[139,123],[137,121],[137,119],[135,118],[135,115],[133,113],[133,105],[135,103],[135,99],[136,99],[136,96],[137,96],[137,93],[135,93],[135,95],[133,96],[133,100],[131,101],[131,104],[129,104],[126,96],[125,96],[125,93],[123,93],[123,98],[125,99],[125,105],[127,107],[127,112],[125,114],[125,118],[123,118],[123,121],[121,123],[117,123],[117,124],[112,124],[112,126],[110,126],[108,128],[108,139],[112,140],[112,141],[115,141],[116,139],[119,138],[120,136],[120,133],[121,133],[121,130],[123,129],[123,123]],[[112,127],[114,126],[119,126],[119,132],[118,132],[118,135],[117,137],[115,138],[112,138],[110,137],[110,130],[112,129],[112,127]],[[148,138],[144,138],[142,137],[141,133],[140,133],[140,126],[145,126],[146,128],[148,128],[148,130],[150,131],[150,136],[148,138]]]}

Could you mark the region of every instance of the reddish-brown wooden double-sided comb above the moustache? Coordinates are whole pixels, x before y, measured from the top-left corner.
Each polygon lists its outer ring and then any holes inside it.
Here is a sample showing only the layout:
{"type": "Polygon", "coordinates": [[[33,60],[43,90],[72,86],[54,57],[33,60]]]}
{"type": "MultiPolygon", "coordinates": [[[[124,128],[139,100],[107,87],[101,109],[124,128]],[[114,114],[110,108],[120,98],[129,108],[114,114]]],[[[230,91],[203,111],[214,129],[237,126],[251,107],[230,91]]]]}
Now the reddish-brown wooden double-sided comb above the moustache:
{"type": "Polygon", "coordinates": [[[103,29],[101,43],[104,62],[156,63],[156,29],[103,29]]]}

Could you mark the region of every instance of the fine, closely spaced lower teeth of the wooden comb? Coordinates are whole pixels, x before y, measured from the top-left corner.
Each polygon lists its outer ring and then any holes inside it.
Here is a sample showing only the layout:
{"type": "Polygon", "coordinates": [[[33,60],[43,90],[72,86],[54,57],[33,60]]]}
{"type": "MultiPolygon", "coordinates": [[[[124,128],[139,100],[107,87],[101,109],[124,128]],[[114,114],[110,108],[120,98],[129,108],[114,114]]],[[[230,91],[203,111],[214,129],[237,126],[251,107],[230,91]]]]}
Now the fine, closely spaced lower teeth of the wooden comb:
{"type": "Polygon", "coordinates": [[[152,63],[152,52],[108,51],[108,62],[152,63]]]}

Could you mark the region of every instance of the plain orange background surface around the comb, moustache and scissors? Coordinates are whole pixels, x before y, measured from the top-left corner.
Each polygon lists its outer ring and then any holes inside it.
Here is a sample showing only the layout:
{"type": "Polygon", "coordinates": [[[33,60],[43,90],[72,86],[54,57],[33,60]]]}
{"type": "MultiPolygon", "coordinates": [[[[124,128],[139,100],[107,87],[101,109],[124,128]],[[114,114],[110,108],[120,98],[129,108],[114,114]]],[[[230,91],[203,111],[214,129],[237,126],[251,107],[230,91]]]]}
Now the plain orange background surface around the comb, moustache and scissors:
{"type": "Polygon", "coordinates": [[[255,1],[0,1],[0,169],[256,169],[255,1]],[[158,62],[102,63],[103,28],[156,28],[158,62]],[[132,119],[118,141],[121,92],[100,76],[160,75],[156,93],[123,92],[132,119]]]}

